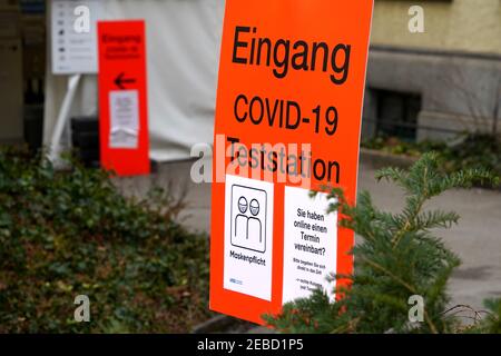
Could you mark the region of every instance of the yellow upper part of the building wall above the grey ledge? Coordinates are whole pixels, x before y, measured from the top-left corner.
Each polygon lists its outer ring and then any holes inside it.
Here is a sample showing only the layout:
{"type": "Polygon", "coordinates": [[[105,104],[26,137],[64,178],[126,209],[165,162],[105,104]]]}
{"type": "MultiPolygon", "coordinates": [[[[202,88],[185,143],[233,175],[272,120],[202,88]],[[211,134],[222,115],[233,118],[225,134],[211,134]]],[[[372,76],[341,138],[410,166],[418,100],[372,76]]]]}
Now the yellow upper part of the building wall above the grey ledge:
{"type": "Polygon", "coordinates": [[[500,0],[375,0],[373,44],[501,55],[500,0]],[[407,30],[411,6],[424,10],[425,32],[407,30]]]}

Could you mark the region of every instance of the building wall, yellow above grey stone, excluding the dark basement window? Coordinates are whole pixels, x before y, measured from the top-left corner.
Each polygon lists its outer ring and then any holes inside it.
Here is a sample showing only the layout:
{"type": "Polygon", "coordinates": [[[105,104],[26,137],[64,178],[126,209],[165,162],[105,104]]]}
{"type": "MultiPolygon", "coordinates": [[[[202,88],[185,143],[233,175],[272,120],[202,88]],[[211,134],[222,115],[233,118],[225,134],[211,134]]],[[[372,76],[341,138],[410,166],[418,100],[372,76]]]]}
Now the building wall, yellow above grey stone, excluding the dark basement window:
{"type": "MultiPolygon", "coordinates": [[[[379,119],[374,92],[384,89],[421,96],[418,140],[501,122],[501,0],[375,0],[371,43],[365,118],[379,119]],[[425,33],[407,30],[413,4],[425,33]]],[[[365,120],[363,137],[375,134],[365,120]]]]}

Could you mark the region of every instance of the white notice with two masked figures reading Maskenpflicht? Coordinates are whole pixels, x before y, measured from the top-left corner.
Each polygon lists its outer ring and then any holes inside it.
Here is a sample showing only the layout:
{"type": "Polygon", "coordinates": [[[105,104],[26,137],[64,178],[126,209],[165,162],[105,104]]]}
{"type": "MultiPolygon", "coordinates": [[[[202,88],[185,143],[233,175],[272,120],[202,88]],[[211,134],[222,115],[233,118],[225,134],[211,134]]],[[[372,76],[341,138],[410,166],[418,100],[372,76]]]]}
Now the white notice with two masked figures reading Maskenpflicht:
{"type": "Polygon", "coordinates": [[[226,176],[224,288],[272,300],[273,184],[226,176]]]}

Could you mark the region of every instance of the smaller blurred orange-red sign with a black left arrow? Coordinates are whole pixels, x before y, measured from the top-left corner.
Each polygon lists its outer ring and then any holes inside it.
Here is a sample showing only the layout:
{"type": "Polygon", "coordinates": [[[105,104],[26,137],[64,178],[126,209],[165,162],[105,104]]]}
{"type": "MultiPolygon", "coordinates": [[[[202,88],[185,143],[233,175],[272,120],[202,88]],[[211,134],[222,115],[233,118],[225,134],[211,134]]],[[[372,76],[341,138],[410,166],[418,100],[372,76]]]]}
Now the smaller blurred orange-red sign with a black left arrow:
{"type": "Polygon", "coordinates": [[[144,21],[98,22],[101,165],[118,176],[150,171],[144,21]]]}

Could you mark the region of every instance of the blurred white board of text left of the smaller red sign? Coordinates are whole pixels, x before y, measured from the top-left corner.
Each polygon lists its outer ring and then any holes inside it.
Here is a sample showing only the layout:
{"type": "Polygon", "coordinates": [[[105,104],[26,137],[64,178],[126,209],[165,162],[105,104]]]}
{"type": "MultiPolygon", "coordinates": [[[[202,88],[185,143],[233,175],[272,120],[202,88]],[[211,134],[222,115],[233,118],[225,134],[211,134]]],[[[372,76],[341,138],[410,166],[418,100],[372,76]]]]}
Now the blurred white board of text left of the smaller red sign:
{"type": "Polygon", "coordinates": [[[100,0],[52,0],[51,46],[55,75],[97,73],[100,0]]]}

